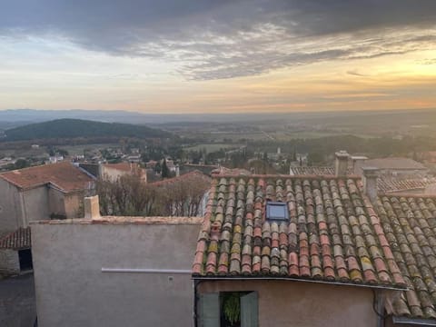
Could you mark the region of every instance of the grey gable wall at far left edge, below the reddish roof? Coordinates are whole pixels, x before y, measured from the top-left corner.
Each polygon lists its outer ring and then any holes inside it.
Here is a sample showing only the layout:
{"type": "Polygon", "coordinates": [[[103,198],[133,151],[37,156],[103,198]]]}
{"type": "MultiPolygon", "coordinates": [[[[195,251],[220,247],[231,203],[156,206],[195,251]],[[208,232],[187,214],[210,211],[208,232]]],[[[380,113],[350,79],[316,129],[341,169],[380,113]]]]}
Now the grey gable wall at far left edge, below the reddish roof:
{"type": "Polygon", "coordinates": [[[18,189],[0,178],[0,236],[14,232],[23,225],[18,189]]]}

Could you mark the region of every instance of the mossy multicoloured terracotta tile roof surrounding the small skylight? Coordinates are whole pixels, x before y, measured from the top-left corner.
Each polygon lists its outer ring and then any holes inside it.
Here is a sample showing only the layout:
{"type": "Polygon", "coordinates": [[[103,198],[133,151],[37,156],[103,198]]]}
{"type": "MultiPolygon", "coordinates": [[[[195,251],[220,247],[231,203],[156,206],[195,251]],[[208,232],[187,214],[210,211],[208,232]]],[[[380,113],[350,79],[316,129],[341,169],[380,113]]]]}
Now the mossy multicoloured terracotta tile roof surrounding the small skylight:
{"type": "Polygon", "coordinates": [[[354,179],[213,179],[194,276],[268,276],[404,286],[379,218],[354,179]],[[289,222],[265,221],[267,200],[289,222]]]}

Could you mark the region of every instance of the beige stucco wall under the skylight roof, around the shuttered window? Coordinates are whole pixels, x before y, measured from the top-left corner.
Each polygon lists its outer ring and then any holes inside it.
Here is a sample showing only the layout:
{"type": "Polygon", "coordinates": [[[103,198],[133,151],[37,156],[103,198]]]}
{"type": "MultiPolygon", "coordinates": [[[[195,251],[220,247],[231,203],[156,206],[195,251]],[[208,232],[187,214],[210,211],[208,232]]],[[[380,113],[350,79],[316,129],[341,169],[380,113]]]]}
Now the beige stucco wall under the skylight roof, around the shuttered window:
{"type": "Polygon", "coordinates": [[[374,327],[372,290],[290,281],[201,282],[198,292],[257,291],[259,327],[374,327]]]}

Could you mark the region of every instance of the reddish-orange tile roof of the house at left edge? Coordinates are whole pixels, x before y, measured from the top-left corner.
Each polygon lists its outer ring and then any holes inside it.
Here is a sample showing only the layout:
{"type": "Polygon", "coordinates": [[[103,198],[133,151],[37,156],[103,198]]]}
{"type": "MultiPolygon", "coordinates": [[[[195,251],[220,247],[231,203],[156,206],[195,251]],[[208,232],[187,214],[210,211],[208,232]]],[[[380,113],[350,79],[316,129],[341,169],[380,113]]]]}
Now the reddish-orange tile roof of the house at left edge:
{"type": "Polygon", "coordinates": [[[72,163],[51,163],[0,173],[0,178],[22,189],[30,189],[48,183],[64,192],[84,190],[93,179],[72,163]]]}

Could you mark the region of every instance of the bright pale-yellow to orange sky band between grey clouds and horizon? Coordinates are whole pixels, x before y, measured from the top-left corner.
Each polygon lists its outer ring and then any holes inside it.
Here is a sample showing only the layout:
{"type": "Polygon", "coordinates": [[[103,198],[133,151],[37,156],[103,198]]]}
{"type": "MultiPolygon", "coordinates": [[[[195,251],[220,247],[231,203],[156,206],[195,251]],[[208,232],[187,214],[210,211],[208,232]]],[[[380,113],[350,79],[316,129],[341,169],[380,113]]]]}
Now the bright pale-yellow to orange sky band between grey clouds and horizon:
{"type": "Polygon", "coordinates": [[[190,81],[159,59],[84,50],[63,39],[0,39],[0,109],[150,114],[436,108],[436,50],[326,60],[190,81]]]}

